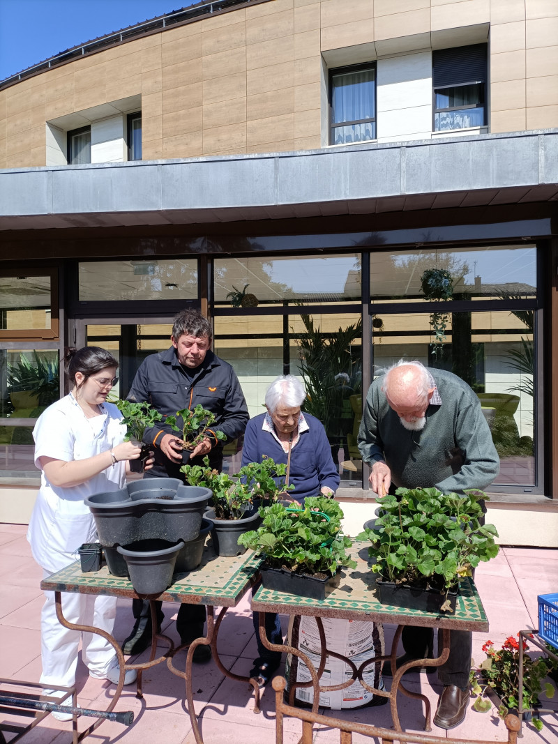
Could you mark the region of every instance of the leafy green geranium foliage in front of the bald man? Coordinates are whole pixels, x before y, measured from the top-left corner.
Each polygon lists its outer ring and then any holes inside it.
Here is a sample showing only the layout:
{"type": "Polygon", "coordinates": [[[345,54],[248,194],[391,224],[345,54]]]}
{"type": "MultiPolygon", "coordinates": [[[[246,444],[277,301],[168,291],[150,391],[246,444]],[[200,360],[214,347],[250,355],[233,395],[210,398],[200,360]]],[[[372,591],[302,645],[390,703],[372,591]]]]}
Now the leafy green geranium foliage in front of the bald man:
{"type": "Polygon", "coordinates": [[[441,493],[436,488],[398,488],[397,496],[378,499],[382,516],[373,530],[356,539],[369,539],[368,553],[375,559],[372,571],[384,581],[404,583],[446,594],[479,562],[498,554],[494,525],[481,525],[481,498],[486,494],[466,490],[441,493]]]}

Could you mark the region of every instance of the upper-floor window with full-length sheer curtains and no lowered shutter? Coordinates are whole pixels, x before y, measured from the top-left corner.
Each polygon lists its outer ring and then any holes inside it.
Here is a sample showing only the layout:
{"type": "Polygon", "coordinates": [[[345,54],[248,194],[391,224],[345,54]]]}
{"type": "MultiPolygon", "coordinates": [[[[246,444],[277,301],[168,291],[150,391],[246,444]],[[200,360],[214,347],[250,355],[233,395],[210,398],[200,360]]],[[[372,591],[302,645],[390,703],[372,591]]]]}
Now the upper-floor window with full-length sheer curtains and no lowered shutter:
{"type": "Polygon", "coordinates": [[[376,65],[330,71],[330,144],[376,139],[376,65]]]}

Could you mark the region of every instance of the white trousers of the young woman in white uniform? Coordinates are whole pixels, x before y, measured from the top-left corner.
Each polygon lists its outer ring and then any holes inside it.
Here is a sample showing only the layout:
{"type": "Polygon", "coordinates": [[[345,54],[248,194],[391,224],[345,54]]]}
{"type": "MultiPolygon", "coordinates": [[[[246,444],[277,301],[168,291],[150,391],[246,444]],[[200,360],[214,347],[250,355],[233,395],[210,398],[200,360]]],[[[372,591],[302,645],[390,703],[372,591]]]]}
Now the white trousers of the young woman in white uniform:
{"type": "MultiPolygon", "coordinates": [[[[43,569],[43,578],[52,571],[43,569]]],[[[76,681],[77,651],[82,638],[82,658],[89,673],[105,679],[115,658],[115,650],[109,641],[96,633],[80,633],[65,628],[58,620],[54,591],[45,591],[45,604],[41,612],[41,658],[40,682],[45,688],[71,687],[76,681]]],[[[71,623],[92,625],[112,635],[116,618],[116,597],[94,594],[72,594],[62,592],[62,614],[71,623]]]]}

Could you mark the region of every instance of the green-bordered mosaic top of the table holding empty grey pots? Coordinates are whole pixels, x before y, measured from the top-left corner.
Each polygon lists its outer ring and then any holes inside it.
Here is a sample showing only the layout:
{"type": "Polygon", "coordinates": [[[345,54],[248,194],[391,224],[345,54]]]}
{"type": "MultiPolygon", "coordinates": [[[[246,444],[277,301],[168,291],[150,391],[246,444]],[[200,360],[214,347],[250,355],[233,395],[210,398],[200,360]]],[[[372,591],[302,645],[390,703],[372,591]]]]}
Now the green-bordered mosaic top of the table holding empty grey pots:
{"type": "MultiPolygon", "coordinates": [[[[165,602],[234,607],[255,583],[260,562],[261,559],[251,551],[236,558],[223,558],[216,556],[212,548],[206,546],[199,568],[186,574],[176,574],[176,582],[157,598],[165,602]]],[[[72,563],[44,579],[41,589],[131,598],[138,596],[128,579],[112,576],[106,566],[97,573],[83,574],[80,562],[72,563]]]]}

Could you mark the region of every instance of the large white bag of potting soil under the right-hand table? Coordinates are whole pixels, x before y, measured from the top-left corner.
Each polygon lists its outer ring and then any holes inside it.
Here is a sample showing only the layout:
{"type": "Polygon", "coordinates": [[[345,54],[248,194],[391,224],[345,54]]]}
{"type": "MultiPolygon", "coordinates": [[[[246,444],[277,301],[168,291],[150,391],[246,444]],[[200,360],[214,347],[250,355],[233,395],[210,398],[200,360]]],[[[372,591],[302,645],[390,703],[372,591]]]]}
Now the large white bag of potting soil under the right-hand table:
{"type": "MultiPolygon", "coordinates": [[[[381,624],[371,623],[363,620],[336,620],[333,618],[322,618],[326,645],[330,651],[350,658],[358,669],[363,661],[384,654],[384,631],[381,624]]],[[[315,618],[301,617],[295,615],[289,620],[289,632],[286,643],[293,648],[304,652],[315,670],[320,665],[320,636],[318,623],[315,618]]],[[[286,658],[286,692],[291,689],[293,682],[310,682],[312,676],[307,665],[298,656],[288,654],[286,658]]],[[[333,686],[342,684],[353,676],[349,664],[333,656],[327,657],[324,673],[321,676],[321,686],[333,686]]],[[[363,674],[365,682],[371,687],[383,690],[382,662],[369,664],[363,674]]],[[[362,708],[365,705],[373,705],[378,696],[374,696],[362,687],[356,679],[344,690],[333,690],[320,693],[320,705],[333,711],[342,711],[347,708],[362,708]]],[[[295,705],[312,705],[314,690],[312,687],[298,687],[295,690],[295,705]]]]}

